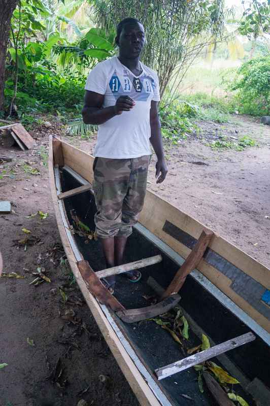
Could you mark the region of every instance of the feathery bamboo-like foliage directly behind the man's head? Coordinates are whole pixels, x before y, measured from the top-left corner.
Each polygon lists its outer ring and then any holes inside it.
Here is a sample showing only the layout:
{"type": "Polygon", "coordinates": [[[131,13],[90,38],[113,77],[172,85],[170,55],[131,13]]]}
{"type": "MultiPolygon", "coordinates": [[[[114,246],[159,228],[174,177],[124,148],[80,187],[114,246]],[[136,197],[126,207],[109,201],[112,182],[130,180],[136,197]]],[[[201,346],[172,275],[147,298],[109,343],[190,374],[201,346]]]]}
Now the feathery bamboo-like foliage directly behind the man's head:
{"type": "MultiPolygon", "coordinates": [[[[90,0],[89,0],[90,1],[90,0]]],[[[144,25],[143,61],[158,73],[160,94],[181,75],[206,45],[220,40],[223,0],[94,0],[95,20],[107,33],[126,16],[144,25]]]]}

